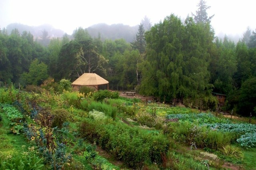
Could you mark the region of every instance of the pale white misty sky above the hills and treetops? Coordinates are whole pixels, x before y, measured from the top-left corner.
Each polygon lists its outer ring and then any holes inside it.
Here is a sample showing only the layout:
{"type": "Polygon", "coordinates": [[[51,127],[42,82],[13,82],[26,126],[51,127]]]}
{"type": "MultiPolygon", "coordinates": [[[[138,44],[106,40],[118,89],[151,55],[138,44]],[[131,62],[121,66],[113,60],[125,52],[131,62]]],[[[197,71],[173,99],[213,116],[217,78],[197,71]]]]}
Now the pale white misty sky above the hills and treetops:
{"type": "MultiPolygon", "coordinates": [[[[78,27],[94,24],[135,26],[144,16],[152,24],[175,14],[181,19],[197,10],[199,0],[0,0],[0,28],[11,23],[39,26],[51,24],[54,28],[72,34],[78,27]]],[[[249,26],[256,29],[255,0],[206,0],[211,6],[208,16],[216,35],[242,36],[249,26]]]]}

